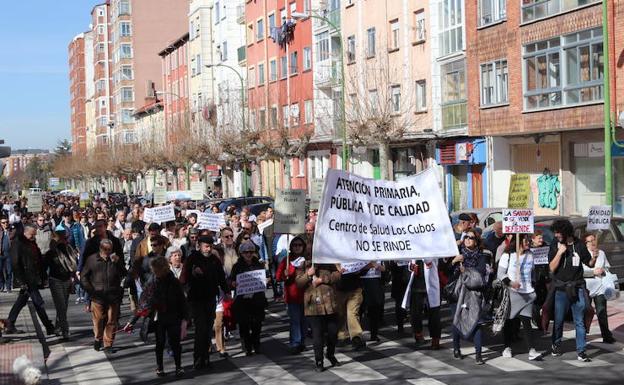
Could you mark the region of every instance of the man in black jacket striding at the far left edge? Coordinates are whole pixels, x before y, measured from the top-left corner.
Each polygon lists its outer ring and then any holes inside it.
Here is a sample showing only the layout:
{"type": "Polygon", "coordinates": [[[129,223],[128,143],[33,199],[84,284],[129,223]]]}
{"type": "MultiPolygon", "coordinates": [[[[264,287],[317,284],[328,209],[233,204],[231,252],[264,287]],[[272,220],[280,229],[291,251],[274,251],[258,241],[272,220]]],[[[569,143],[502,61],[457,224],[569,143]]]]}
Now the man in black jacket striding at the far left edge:
{"type": "Polygon", "coordinates": [[[48,318],[48,314],[43,307],[43,298],[41,298],[41,293],[39,293],[39,289],[43,287],[45,280],[45,271],[41,251],[35,240],[36,234],[37,229],[35,227],[26,225],[24,234],[17,235],[11,245],[13,279],[15,286],[20,288],[20,292],[9,312],[8,320],[11,326],[6,331],[7,334],[18,332],[14,326],[15,321],[20,311],[28,303],[29,297],[32,299],[33,305],[35,305],[37,314],[45,326],[47,334],[54,334],[54,324],[48,318]]]}

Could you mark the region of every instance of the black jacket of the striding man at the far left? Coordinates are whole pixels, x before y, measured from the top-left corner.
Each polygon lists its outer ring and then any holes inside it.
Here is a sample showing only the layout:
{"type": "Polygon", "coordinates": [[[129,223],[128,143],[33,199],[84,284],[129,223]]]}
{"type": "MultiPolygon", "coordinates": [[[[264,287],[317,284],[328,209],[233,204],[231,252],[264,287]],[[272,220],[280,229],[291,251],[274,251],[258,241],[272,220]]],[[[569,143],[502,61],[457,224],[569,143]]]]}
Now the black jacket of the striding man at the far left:
{"type": "Polygon", "coordinates": [[[11,244],[13,260],[13,286],[27,285],[41,288],[46,280],[41,251],[37,242],[18,234],[11,244]]]}

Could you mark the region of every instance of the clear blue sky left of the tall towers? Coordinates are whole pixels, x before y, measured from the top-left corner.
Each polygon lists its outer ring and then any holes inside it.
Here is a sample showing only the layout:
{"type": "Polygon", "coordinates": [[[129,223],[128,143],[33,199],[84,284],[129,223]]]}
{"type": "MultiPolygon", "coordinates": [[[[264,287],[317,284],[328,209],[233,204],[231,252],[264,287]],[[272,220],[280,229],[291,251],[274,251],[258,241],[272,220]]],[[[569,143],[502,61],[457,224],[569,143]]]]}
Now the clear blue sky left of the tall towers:
{"type": "Polygon", "coordinates": [[[67,47],[103,0],[0,0],[0,139],[53,149],[71,139],[67,47]]]}

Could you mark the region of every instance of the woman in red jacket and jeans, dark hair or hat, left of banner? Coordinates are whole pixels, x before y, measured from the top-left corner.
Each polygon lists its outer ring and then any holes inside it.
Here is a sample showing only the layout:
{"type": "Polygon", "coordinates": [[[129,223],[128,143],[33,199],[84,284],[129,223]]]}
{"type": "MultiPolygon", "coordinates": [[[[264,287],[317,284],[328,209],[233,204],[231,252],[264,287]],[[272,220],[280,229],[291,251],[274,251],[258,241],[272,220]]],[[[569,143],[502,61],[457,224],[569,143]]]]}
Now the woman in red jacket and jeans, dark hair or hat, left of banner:
{"type": "Polygon", "coordinates": [[[306,242],[302,236],[295,236],[290,241],[290,252],[277,267],[275,279],[284,282],[284,302],[290,321],[290,353],[298,354],[305,349],[306,323],[303,312],[304,290],[297,286],[297,269],[303,269],[306,259],[306,242]]]}

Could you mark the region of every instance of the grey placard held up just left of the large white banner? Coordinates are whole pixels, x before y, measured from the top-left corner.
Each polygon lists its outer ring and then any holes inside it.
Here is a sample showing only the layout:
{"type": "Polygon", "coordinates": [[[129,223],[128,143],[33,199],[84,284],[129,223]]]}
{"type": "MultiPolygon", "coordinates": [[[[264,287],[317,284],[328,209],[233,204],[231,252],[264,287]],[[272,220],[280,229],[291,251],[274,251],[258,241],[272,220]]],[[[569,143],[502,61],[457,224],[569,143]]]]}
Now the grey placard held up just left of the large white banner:
{"type": "Polygon", "coordinates": [[[305,190],[277,191],[274,224],[276,233],[303,233],[305,227],[305,190]]]}

